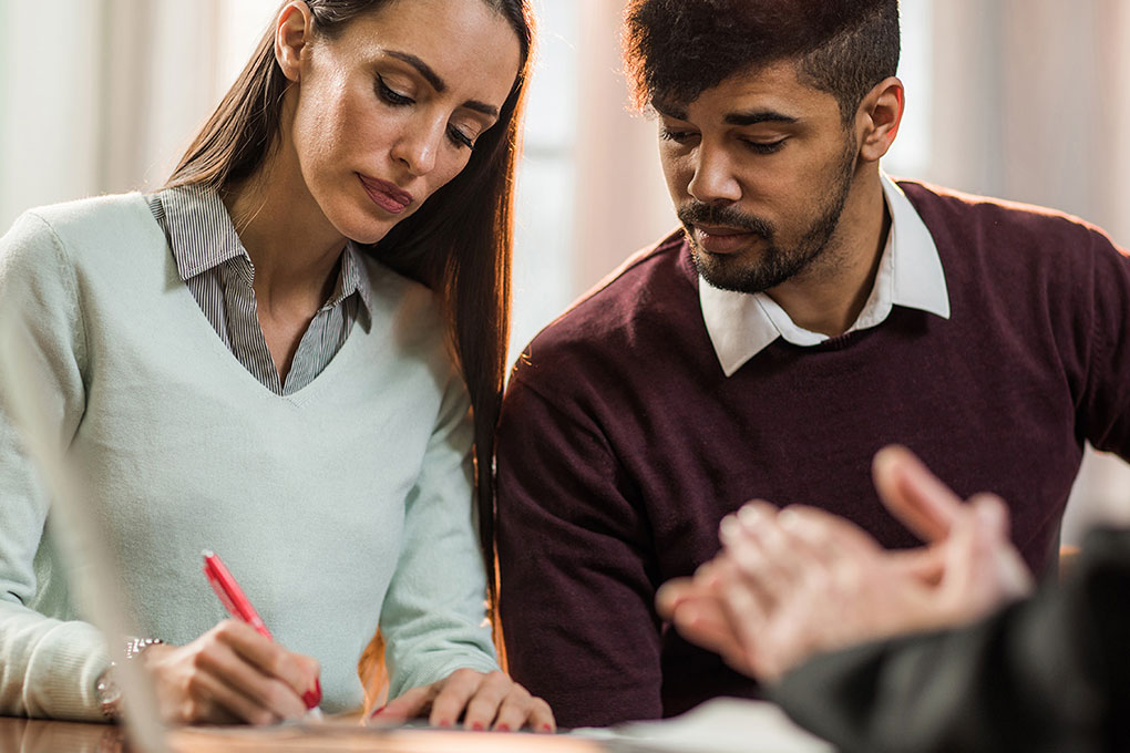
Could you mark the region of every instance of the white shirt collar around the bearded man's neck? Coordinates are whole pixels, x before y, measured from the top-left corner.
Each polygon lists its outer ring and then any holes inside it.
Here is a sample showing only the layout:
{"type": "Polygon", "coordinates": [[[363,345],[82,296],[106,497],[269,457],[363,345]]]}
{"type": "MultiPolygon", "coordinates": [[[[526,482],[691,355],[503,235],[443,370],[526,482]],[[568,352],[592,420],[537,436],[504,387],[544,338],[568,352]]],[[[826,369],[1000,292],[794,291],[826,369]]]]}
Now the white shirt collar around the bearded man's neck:
{"type": "MultiPolygon", "coordinates": [[[[938,246],[902,189],[885,173],[880,173],[879,180],[890,210],[890,231],[871,295],[847,331],[881,324],[893,306],[918,308],[948,319],[949,289],[938,246]]],[[[784,309],[764,292],[719,290],[699,278],[698,300],[706,332],[727,376],[777,338],[801,347],[828,340],[827,335],[793,324],[784,309]]]]}

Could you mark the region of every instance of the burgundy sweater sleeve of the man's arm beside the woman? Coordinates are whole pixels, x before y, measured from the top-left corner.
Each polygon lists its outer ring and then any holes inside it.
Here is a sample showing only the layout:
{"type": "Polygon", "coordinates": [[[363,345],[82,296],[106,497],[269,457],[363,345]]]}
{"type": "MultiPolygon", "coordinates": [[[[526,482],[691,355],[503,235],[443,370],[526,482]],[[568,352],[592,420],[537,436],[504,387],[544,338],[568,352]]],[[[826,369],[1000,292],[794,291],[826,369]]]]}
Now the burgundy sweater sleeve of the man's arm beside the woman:
{"type": "MultiPolygon", "coordinates": [[[[562,359],[542,352],[539,364],[562,359]]],[[[657,719],[661,643],[647,517],[598,422],[566,387],[550,395],[531,386],[527,366],[511,378],[497,438],[510,671],[563,727],[657,719]]]]}

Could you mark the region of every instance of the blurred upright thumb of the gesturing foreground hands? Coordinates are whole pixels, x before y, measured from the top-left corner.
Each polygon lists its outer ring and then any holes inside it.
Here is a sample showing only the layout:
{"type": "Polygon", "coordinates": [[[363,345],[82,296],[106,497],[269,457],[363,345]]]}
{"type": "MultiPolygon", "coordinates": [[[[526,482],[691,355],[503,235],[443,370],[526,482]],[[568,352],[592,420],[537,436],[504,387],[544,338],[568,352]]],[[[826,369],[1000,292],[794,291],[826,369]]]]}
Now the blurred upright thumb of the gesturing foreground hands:
{"type": "Polygon", "coordinates": [[[905,447],[880,449],[872,464],[875,489],[883,505],[923,541],[949,533],[962,499],[905,447]]]}

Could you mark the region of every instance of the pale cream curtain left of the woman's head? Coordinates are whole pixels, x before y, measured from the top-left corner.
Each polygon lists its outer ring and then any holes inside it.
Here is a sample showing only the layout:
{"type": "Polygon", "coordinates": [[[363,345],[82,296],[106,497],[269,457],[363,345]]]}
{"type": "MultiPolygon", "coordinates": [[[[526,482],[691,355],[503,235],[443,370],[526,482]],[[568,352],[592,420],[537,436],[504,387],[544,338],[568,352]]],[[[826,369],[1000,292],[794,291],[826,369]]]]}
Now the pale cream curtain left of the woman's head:
{"type": "Polygon", "coordinates": [[[233,3],[6,2],[0,227],[31,207],[159,186],[229,82],[218,61],[233,3]]]}

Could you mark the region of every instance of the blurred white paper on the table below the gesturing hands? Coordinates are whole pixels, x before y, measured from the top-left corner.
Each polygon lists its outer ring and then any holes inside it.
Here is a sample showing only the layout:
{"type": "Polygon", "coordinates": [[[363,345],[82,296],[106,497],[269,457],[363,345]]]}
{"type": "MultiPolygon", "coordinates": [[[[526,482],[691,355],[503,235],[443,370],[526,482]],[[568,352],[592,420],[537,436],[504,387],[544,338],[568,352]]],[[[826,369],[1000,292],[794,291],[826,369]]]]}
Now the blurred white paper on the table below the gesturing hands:
{"type": "Polygon", "coordinates": [[[588,727],[572,734],[606,743],[612,751],[640,753],[835,753],[776,704],[737,698],[716,698],[663,721],[588,727]]]}

